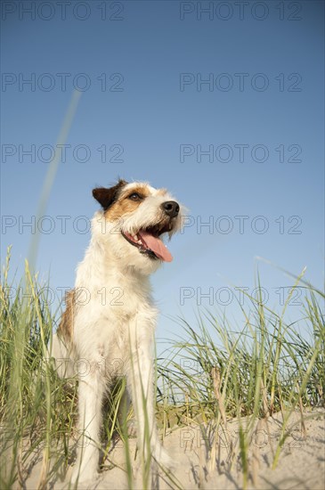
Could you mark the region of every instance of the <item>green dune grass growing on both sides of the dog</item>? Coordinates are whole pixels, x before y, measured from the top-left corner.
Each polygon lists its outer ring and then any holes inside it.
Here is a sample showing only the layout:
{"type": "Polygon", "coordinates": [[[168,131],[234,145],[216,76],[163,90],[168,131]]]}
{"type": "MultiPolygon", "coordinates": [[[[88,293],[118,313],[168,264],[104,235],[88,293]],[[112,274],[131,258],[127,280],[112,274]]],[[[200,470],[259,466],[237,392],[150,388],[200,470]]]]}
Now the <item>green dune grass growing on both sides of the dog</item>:
{"type": "MultiPolygon", "coordinates": [[[[77,387],[58,378],[48,354],[61,312],[51,310],[47,289],[30,274],[28,263],[14,288],[9,270],[10,250],[0,289],[0,487],[23,486],[31,461],[41,457],[38,487],[42,488],[64,473],[82,437],[76,433],[77,387]]],[[[229,445],[229,461],[232,464],[235,454],[240,457],[244,486],[256,423],[282,413],[280,442],[273,453],[275,468],[288,435],[290,412],[325,404],[324,295],[302,277],[293,284],[291,294],[298,285],[305,287],[306,296],[296,323],[285,321],[288,300],[279,313],[264,306],[262,298],[249,298],[250,306],[242,308],[244,326],[236,331],[223,315],[199,310],[195,325],[177,320],[183,333],[170,341],[167,355],[158,359],[157,417],[162,436],[193,423],[204,431],[212,423],[215,439],[209,447],[209,470],[214,470],[218,428],[226,429],[227,421],[237,417],[240,437],[237,448],[229,445]]],[[[118,423],[124,388],[122,381],[106,406],[102,450],[107,456],[113,430],[118,430],[126,447],[131,488],[126,423],[118,423]]],[[[303,429],[303,418],[301,423],[303,429]]],[[[143,488],[150,487],[149,479],[146,466],[143,488]]],[[[181,487],[176,481],[171,486],[181,487]]]]}

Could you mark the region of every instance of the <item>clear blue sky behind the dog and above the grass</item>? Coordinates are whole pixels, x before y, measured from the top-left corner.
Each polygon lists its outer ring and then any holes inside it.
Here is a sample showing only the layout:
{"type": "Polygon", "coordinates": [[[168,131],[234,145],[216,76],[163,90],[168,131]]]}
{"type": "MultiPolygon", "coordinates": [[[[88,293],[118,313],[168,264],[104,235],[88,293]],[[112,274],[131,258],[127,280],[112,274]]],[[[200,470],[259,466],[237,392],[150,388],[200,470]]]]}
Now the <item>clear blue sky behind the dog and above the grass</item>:
{"type": "MultiPolygon", "coordinates": [[[[58,295],[73,286],[89,241],[93,187],[118,176],[167,187],[189,208],[169,247],[174,262],[152,277],[158,336],[177,331],[169,316],[191,320],[199,302],[240,322],[235,287],[252,292],[257,265],[278,310],[292,280],[275,265],[292,274],[306,266],[322,286],[323,2],[2,9],[2,263],[9,244],[13,269],[28,257],[34,230],[23,223],[36,216],[77,89],[37,255],[58,295]],[[58,216],[68,216],[65,233],[58,216]]],[[[299,311],[288,307],[293,318],[299,311]]]]}

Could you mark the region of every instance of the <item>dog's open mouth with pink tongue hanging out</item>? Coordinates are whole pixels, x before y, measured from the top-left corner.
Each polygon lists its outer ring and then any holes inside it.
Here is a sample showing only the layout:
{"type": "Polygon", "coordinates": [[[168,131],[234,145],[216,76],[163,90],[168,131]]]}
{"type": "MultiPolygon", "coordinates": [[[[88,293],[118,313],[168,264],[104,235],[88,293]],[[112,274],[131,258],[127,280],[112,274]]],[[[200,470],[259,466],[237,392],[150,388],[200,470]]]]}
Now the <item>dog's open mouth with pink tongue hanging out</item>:
{"type": "Polygon", "coordinates": [[[148,228],[139,230],[132,235],[131,233],[121,232],[126,241],[134,245],[139,249],[141,254],[145,254],[148,257],[157,260],[163,260],[165,262],[171,262],[173,260],[172,254],[167,249],[167,246],[160,240],[159,236],[162,233],[170,232],[172,225],[165,225],[163,228],[158,226],[150,226],[148,228]]]}

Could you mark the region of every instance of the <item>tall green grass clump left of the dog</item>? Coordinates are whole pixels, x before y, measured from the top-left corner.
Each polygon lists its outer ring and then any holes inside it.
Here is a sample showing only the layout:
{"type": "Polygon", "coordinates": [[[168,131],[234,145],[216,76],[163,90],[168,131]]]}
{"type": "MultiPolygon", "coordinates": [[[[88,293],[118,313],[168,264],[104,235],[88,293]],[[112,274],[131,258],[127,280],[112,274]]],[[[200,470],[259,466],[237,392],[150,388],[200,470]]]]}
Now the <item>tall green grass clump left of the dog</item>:
{"type": "Polygon", "coordinates": [[[57,378],[49,359],[58,312],[50,310],[48,289],[31,276],[28,263],[20,283],[9,284],[9,265],[10,251],[0,289],[0,486],[10,488],[23,480],[28,461],[39,453],[43,486],[61,462],[68,462],[76,394],[65,389],[66,382],[57,378]],[[58,463],[52,470],[50,455],[58,463]]]}

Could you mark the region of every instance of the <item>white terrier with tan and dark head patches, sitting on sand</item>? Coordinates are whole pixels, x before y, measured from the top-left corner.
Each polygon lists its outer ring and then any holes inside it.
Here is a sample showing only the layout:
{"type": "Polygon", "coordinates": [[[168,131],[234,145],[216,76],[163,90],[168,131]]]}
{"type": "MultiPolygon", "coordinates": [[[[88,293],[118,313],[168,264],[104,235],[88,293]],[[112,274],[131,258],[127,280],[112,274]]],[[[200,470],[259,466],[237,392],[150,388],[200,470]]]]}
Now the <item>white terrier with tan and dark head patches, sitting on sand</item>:
{"type": "Polygon", "coordinates": [[[170,238],[180,229],[182,209],[165,189],[147,183],[119,180],[113,187],[93,189],[93,197],[102,210],[93,216],[90,245],[77,266],[75,289],[67,295],[53,336],[52,355],[59,374],[78,374],[78,433],[84,434],[84,444],[77,450],[73,482],[98,476],[102,401],[117,365],[134,404],[138,446],[148,446],[144,434],[149,429],[153,458],[167,467],[171,462],[155,422],[158,311],[149,275],[173,259],[161,236],[170,238]]]}

